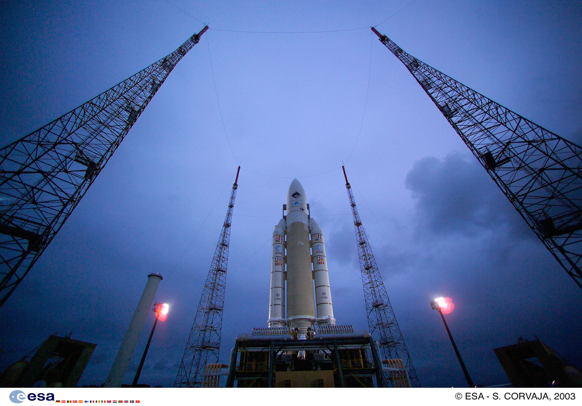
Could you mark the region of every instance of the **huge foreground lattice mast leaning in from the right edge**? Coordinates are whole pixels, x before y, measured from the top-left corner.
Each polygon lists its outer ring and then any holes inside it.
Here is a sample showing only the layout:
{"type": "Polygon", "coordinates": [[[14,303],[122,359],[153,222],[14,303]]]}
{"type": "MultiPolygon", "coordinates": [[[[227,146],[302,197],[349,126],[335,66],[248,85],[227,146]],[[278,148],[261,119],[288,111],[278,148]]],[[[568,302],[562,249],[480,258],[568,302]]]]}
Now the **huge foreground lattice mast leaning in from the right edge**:
{"type": "Polygon", "coordinates": [[[524,119],[372,31],[413,74],[560,265],[582,288],[582,147],[524,119]]]}

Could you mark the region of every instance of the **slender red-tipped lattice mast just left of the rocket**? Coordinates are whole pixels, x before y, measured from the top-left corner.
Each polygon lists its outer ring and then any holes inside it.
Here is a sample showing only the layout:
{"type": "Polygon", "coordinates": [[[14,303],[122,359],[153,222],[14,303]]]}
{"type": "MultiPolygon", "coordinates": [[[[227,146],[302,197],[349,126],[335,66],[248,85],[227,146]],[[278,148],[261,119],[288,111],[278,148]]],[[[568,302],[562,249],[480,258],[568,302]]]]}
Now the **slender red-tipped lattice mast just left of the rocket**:
{"type": "Polygon", "coordinates": [[[232,185],[222,232],[218,238],[210,270],[208,270],[204,290],[200,297],[200,303],[198,303],[196,317],[190,330],[174,387],[201,387],[206,365],[218,362],[230,244],[230,223],[232,222],[232,210],[235,207],[239,172],[240,166],[236,172],[235,183],[232,185]]]}

